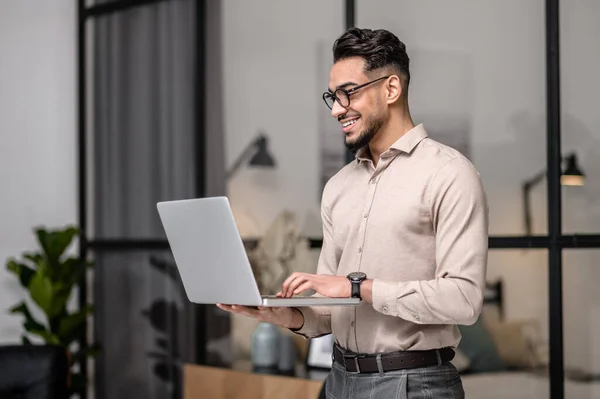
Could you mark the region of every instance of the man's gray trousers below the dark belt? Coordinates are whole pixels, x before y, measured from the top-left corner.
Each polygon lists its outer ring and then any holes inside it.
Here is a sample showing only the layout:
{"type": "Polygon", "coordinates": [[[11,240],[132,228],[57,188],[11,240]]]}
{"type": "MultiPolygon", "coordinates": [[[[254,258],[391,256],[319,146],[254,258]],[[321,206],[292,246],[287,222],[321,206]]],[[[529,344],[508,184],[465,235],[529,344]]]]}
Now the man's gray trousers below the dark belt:
{"type": "Polygon", "coordinates": [[[385,373],[357,374],[333,362],[325,381],[327,399],[463,399],[458,371],[450,362],[385,373]]]}

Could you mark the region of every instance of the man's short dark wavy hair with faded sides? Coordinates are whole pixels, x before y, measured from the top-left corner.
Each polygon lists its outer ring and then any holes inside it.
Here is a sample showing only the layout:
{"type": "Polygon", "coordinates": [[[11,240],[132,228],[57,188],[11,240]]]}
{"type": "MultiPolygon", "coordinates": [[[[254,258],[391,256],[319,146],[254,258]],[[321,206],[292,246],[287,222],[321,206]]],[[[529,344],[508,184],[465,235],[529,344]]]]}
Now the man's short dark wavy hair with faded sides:
{"type": "Polygon", "coordinates": [[[385,29],[350,28],[333,43],[333,62],[350,57],[365,60],[365,72],[392,67],[404,80],[404,90],[410,81],[406,46],[385,29]]]}

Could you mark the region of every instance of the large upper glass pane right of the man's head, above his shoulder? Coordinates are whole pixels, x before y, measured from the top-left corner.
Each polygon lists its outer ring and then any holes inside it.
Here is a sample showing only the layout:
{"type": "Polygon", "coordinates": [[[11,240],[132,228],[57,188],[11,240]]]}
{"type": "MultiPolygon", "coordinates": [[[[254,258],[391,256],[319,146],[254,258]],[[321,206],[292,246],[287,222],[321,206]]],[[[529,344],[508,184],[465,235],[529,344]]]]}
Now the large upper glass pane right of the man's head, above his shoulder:
{"type": "MultiPolygon", "coordinates": [[[[521,187],[546,167],[544,2],[361,0],[356,9],[357,26],[407,45],[413,120],[481,172],[490,234],[524,234],[521,187]]],[[[547,232],[545,187],[531,190],[536,234],[547,232]]]]}

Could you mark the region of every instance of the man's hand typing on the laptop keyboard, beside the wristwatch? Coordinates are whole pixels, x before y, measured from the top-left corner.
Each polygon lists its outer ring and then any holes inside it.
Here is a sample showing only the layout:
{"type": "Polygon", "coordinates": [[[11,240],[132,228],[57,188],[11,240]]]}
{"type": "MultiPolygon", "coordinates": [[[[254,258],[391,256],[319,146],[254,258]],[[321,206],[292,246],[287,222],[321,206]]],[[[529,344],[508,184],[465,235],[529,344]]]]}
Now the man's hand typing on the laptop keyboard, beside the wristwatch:
{"type": "Polygon", "coordinates": [[[309,289],[329,298],[349,298],[352,292],[350,280],[345,276],[296,272],[283,282],[277,296],[289,298],[309,289]]]}

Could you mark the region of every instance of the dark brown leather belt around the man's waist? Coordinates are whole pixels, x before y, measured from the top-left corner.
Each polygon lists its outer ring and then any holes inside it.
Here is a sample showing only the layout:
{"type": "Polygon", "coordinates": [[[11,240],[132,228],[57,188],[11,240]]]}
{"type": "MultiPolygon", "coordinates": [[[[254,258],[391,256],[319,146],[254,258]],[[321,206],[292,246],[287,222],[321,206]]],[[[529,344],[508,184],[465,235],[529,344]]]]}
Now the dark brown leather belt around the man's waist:
{"type": "MultiPolygon", "coordinates": [[[[394,371],[433,366],[454,358],[452,348],[426,351],[404,351],[381,354],[381,371],[394,371]]],[[[348,352],[337,344],[333,346],[333,359],[351,373],[377,373],[377,355],[348,352]]]]}

